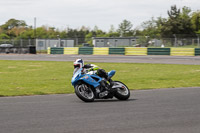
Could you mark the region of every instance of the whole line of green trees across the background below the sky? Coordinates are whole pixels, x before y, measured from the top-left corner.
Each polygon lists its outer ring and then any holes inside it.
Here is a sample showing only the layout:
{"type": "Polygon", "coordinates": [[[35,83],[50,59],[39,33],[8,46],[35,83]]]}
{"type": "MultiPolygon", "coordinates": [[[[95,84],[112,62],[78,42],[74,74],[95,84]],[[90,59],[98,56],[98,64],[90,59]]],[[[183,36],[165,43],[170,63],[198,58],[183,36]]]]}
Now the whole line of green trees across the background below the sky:
{"type": "Polygon", "coordinates": [[[52,39],[78,38],[79,42],[91,43],[92,37],[130,37],[148,36],[149,38],[196,37],[200,34],[200,11],[192,12],[189,7],[177,8],[176,5],[167,11],[168,17],[152,17],[140,26],[133,28],[134,22],[123,20],[118,28],[111,25],[108,32],[95,26],[93,29],[82,26],[79,29],[66,28],[59,30],[55,27],[41,26],[34,29],[24,20],[10,19],[0,25],[0,39],[52,39]]]}

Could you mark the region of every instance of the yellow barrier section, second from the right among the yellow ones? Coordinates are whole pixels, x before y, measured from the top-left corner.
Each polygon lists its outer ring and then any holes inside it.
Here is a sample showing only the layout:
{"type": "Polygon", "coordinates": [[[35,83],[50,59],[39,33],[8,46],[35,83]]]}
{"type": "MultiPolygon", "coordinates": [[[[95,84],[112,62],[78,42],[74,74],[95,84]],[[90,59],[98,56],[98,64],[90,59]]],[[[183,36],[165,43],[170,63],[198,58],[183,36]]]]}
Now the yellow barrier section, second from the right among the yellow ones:
{"type": "Polygon", "coordinates": [[[126,47],[125,55],[147,55],[147,48],[126,47]]]}

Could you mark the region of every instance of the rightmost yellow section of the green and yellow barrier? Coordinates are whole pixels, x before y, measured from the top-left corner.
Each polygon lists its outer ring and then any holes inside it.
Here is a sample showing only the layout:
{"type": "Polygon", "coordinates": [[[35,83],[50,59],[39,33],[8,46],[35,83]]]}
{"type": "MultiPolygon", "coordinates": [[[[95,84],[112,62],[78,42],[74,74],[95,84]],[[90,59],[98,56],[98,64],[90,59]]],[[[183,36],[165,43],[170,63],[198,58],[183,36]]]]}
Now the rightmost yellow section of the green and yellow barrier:
{"type": "Polygon", "coordinates": [[[194,48],[171,48],[172,56],[194,56],[194,48]]]}

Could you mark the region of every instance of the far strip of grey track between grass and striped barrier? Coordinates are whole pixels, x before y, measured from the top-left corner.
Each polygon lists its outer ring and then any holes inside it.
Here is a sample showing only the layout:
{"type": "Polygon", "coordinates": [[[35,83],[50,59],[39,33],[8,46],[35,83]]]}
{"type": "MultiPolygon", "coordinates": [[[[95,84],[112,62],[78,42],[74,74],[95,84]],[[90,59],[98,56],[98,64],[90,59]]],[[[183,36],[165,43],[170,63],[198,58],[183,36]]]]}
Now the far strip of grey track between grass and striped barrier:
{"type": "Polygon", "coordinates": [[[127,62],[127,63],[161,63],[200,65],[199,56],[124,56],[124,55],[6,55],[0,54],[0,60],[40,60],[40,61],[74,61],[82,58],[86,62],[127,62]]]}

